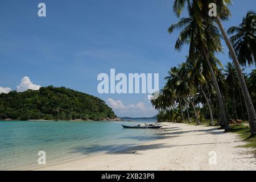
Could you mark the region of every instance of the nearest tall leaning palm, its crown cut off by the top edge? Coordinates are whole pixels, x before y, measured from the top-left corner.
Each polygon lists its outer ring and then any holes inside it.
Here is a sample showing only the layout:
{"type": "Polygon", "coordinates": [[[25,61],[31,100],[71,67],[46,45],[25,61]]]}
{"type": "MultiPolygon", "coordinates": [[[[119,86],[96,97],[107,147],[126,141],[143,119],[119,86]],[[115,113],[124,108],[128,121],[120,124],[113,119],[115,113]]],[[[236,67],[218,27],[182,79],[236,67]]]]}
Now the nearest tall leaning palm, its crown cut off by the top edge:
{"type": "MultiPolygon", "coordinates": [[[[251,137],[256,134],[256,113],[253,106],[253,102],[251,101],[251,97],[249,91],[246,86],[245,78],[243,77],[243,73],[240,67],[240,63],[237,59],[236,52],[233,49],[233,46],[226,34],[224,27],[222,26],[221,20],[226,20],[230,16],[230,11],[227,5],[232,4],[231,0],[192,0],[193,4],[193,11],[195,13],[195,19],[197,19],[200,23],[202,19],[209,19],[213,20],[217,23],[218,27],[220,28],[221,34],[223,39],[225,40],[226,46],[229,49],[230,56],[232,57],[234,66],[237,70],[238,80],[240,82],[240,86],[242,89],[243,97],[245,98],[246,109],[249,117],[249,125],[251,131],[251,137]],[[209,4],[215,3],[217,6],[217,16],[210,18],[209,13],[209,4]]],[[[181,15],[182,10],[184,9],[185,5],[188,5],[188,8],[191,7],[190,0],[175,0],[174,2],[174,13],[179,17],[181,15]]],[[[215,82],[213,80],[213,82],[215,82]]],[[[221,108],[222,109],[222,108],[221,108]]]]}

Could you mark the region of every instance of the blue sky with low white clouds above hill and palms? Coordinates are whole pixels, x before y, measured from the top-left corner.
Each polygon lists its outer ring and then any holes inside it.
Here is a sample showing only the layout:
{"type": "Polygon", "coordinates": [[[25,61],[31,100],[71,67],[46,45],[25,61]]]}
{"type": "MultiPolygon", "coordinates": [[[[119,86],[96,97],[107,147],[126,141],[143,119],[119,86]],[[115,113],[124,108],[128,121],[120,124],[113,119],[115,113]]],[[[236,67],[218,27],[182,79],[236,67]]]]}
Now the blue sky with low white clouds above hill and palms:
{"type": "MultiPolygon", "coordinates": [[[[159,73],[160,88],[170,67],[184,61],[187,47],[174,49],[178,32],[172,0],[0,1],[0,86],[16,90],[27,76],[35,86],[65,86],[100,97],[119,116],[156,114],[146,94],[99,94],[97,76],[159,73]],[[47,17],[38,17],[46,3],[47,17]]],[[[234,1],[226,28],[237,26],[255,0],[234,1]]],[[[225,44],[224,50],[226,50],[225,44]]],[[[229,57],[218,55],[222,63],[229,57]]],[[[250,72],[254,67],[247,68],[250,72]]],[[[26,80],[26,79],[25,79],[26,80]]]]}

